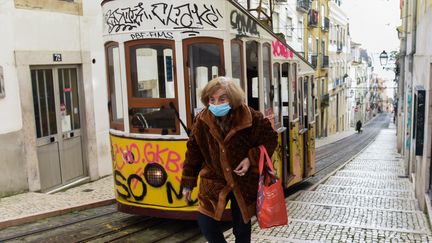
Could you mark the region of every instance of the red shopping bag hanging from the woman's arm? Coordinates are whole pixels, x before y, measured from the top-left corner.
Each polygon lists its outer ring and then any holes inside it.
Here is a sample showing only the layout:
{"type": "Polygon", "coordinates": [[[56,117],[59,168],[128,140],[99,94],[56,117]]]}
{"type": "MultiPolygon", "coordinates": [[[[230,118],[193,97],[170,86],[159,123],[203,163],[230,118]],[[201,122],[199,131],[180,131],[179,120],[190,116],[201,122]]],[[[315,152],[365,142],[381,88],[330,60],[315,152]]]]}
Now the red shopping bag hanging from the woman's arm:
{"type": "Polygon", "coordinates": [[[257,219],[261,229],[288,224],[281,181],[276,177],[267,150],[260,145],[257,219]],[[264,157],[265,156],[265,157],[264,157]]]}

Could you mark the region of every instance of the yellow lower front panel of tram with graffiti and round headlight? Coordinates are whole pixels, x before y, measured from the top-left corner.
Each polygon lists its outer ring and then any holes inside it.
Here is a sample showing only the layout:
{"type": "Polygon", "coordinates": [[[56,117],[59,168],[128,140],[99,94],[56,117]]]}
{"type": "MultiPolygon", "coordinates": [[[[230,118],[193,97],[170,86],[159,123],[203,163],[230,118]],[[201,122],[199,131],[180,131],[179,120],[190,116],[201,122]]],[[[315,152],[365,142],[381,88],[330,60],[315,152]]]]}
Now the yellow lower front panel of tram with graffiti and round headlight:
{"type": "Polygon", "coordinates": [[[111,137],[116,193],[124,200],[166,207],[184,206],[181,168],[185,141],[111,137]]]}

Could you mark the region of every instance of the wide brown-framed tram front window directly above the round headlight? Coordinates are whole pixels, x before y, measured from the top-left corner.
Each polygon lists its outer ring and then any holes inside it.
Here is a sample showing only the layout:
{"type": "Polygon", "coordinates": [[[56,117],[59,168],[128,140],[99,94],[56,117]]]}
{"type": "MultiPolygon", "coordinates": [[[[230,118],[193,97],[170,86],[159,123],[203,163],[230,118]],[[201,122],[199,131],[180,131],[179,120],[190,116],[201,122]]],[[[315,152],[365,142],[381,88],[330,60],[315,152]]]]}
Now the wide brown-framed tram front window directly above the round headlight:
{"type": "Polygon", "coordinates": [[[125,43],[131,132],[179,134],[174,41],[125,43]]]}

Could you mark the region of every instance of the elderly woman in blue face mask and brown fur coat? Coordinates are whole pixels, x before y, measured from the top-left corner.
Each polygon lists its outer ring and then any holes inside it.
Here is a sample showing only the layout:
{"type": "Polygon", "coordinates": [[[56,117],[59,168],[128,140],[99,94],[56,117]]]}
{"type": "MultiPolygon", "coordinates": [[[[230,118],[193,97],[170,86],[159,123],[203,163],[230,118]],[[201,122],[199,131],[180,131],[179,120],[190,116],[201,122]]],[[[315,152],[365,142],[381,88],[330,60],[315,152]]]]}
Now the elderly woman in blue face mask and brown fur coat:
{"type": "Polygon", "coordinates": [[[209,242],[225,242],[218,221],[228,201],[236,242],[250,242],[258,190],[258,146],[264,145],[271,155],[277,145],[270,121],[244,101],[243,90],[232,79],[211,80],[201,93],[206,108],[196,116],[187,143],[183,195],[191,201],[199,175],[198,224],[209,242]]]}

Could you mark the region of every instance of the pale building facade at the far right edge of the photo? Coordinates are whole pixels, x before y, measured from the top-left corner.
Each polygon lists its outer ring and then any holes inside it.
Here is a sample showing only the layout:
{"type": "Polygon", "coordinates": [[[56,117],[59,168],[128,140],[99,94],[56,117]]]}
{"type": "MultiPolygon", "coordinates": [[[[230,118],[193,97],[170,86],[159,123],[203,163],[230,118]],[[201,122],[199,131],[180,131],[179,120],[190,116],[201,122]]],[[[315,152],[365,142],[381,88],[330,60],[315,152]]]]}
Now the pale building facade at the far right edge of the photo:
{"type": "Polygon", "coordinates": [[[431,212],[432,2],[401,1],[397,124],[399,149],[423,210],[431,212]]]}

